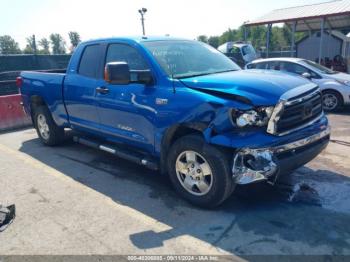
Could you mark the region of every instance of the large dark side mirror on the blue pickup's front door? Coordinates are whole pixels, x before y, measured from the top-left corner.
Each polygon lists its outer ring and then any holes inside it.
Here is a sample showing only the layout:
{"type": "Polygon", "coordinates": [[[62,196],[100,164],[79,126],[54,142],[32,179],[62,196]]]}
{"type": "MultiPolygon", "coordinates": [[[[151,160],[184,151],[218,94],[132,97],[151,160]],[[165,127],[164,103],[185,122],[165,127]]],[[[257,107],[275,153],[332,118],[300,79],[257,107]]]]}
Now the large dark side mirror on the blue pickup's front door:
{"type": "Polygon", "coordinates": [[[117,85],[130,83],[130,69],[126,62],[110,62],[105,66],[104,79],[106,82],[117,85]]]}

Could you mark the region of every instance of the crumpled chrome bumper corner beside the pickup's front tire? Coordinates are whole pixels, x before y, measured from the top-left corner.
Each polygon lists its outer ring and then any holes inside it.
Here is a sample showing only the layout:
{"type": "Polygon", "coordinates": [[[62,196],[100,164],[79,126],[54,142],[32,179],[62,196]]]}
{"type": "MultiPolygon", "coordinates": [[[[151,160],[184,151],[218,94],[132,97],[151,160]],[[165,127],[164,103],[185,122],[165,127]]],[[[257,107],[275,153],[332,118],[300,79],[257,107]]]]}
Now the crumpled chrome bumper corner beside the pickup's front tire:
{"type": "Polygon", "coordinates": [[[276,174],[278,169],[274,154],[270,150],[243,149],[233,160],[232,174],[237,184],[250,184],[276,174]]]}

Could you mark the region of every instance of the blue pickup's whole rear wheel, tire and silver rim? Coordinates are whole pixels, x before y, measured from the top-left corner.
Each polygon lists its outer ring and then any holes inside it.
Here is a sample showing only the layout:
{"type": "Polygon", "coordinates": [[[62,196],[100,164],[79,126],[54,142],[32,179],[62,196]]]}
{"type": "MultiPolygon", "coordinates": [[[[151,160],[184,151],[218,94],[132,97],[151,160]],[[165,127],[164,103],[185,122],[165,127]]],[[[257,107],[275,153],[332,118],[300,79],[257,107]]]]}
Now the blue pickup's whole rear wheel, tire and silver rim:
{"type": "Polygon", "coordinates": [[[63,142],[64,129],[56,125],[46,106],[35,108],[34,125],[40,140],[45,145],[55,146],[63,142]]]}

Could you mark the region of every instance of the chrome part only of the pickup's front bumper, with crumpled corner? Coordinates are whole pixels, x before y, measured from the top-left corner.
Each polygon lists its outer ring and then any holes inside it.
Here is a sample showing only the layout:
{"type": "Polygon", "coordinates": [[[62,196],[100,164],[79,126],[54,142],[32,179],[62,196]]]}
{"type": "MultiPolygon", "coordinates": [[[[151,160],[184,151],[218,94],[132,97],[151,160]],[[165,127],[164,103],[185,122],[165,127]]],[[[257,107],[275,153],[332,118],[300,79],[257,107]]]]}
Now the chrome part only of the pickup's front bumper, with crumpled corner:
{"type": "Polygon", "coordinates": [[[233,179],[237,184],[250,184],[269,179],[279,169],[276,155],[295,152],[330,135],[330,127],[315,135],[288,144],[266,148],[243,148],[235,156],[232,166],[233,179]]]}

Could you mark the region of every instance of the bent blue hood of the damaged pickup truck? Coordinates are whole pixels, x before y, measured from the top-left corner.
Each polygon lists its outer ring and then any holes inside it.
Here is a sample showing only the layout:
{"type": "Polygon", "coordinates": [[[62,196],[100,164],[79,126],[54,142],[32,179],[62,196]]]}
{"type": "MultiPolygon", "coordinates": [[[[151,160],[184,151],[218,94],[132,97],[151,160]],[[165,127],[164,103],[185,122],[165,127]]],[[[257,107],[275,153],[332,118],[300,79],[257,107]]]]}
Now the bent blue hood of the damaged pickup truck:
{"type": "Polygon", "coordinates": [[[316,87],[303,77],[268,70],[239,70],[183,78],[181,82],[198,91],[243,97],[255,106],[275,105],[285,92],[304,85],[316,87]]]}

